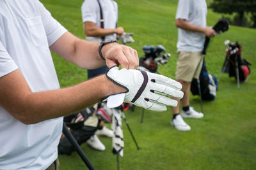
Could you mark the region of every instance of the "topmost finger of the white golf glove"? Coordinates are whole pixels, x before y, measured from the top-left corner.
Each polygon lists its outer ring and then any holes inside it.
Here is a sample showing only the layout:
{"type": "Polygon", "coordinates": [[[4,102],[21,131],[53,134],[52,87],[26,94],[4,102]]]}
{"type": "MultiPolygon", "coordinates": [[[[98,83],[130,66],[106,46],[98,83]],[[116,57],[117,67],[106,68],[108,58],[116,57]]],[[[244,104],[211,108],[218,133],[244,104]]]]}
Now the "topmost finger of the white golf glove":
{"type": "Polygon", "coordinates": [[[168,78],[160,74],[150,73],[150,81],[154,81],[154,80],[156,81],[156,83],[166,85],[168,87],[173,87],[174,89],[177,89],[177,90],[180,90],[182,88],[182,85],[179,82],[172,80],[171,78],[168,78]]]}

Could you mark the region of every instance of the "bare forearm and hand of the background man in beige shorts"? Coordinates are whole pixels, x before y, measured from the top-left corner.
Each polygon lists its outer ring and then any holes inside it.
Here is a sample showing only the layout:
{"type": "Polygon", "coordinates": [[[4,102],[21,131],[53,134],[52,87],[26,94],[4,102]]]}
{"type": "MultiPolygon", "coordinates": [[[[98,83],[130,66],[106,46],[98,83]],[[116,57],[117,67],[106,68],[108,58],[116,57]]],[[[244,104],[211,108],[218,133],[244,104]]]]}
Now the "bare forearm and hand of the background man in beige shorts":
{"type": "Polygon", "coordinates": [[[216,32],[214,31],[214,29],[211,29],[209,27],[199,27],[197,25],[189,24],[188,21],[180,18],[176,19],[175,25],[176,27],[179,27],[180,29],[184,29],[186,31],[201,32],[208,37],[213,37],[216,35],[216,32]]]}

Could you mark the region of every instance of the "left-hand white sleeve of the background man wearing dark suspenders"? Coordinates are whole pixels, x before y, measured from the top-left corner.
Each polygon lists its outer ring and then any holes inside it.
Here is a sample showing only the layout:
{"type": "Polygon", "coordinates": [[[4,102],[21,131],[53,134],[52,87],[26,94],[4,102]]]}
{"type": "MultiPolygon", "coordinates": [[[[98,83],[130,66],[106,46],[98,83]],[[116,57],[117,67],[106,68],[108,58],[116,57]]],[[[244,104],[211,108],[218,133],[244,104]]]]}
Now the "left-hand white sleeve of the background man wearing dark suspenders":
{"type": "Polygon", "coordinates": [[[85,0],[81,6],[83,22],[96,23],[98,10],[99,3],[97,2],[97,0],[85,0]]]}

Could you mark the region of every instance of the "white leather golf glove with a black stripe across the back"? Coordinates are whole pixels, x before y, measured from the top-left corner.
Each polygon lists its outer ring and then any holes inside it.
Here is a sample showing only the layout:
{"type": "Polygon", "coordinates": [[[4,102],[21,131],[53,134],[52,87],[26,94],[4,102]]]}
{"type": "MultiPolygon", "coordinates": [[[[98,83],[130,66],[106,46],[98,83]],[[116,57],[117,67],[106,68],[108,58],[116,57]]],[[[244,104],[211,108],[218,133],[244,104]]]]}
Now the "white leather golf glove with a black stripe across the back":
{"type": "Polygon", "coordinates": [[[111,67],[106,76],[117,85],[127,89],[127,92],[108,97],[107,106],[115,108],[123,102],[132,103],[148,110],[165,111],[167,106],[177,106],[177,101],[169,96],[181,99],[182,85],[166,76],[138,71],[136,69],[121,69],[111,67]]]}

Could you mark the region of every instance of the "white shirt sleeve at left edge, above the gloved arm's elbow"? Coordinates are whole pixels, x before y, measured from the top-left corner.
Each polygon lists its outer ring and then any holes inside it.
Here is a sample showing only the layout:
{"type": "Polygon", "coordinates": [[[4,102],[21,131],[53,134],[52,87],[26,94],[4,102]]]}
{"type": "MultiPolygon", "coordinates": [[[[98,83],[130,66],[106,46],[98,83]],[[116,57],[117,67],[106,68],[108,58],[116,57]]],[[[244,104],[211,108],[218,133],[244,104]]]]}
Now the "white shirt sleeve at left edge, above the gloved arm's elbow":
{"type": "Polygon", "coordinates": [[[11,73],[15,69],[18,69],[18,66],[0,41],[0,77],[11,73]]]}

